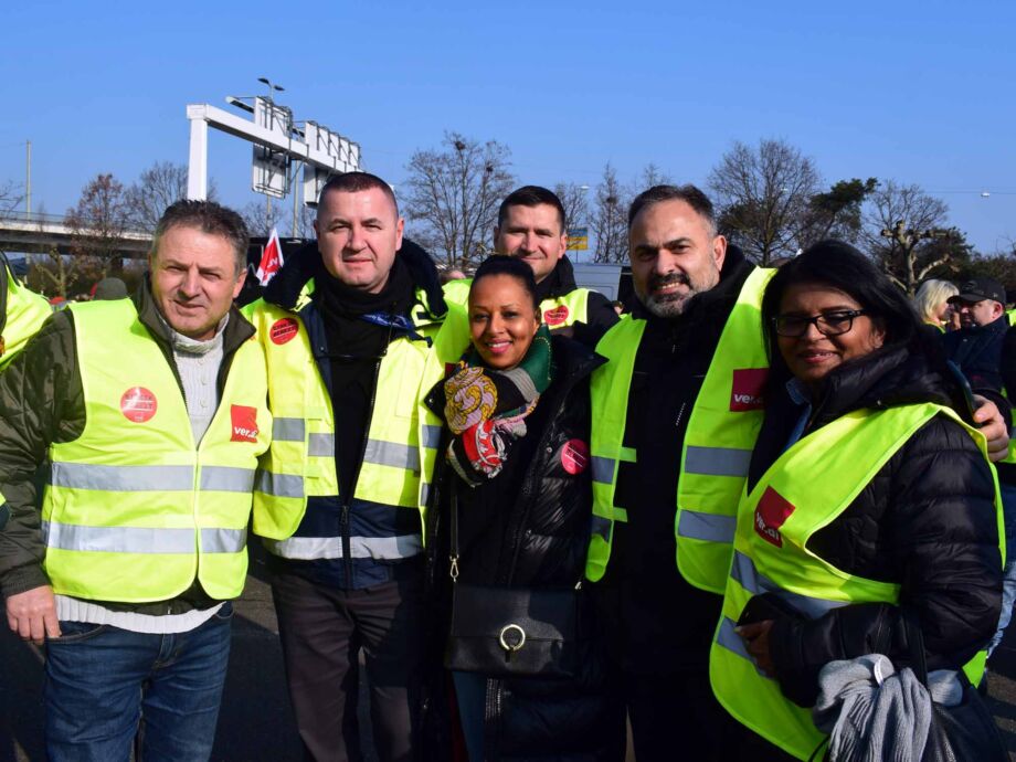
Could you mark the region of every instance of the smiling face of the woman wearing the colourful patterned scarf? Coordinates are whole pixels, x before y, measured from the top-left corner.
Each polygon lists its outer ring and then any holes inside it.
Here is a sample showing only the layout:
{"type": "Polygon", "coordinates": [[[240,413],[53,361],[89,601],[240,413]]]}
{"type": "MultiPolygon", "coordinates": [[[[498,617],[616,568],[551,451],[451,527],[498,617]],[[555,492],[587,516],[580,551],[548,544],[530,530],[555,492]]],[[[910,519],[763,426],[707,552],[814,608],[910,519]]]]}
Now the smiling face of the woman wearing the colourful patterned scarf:
{"type": "Polygon", "coordinates": [[[522,283],[510,275],[474,281],[469,292],[473,347],[489,368],[510,370],[522,361],[540,328],[540,311],[522,283]]]}

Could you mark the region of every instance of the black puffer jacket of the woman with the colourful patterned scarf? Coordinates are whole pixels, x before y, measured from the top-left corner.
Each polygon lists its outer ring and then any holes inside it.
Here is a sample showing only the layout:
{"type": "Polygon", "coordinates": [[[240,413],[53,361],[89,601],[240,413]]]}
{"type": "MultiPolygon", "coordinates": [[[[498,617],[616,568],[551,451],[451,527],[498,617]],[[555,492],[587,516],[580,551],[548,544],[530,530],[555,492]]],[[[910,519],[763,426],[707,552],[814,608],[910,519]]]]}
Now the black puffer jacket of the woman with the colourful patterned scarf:
{"type": "MultiPolygon", "coordinates": [[[[563,336],[552,337],[552,347],[554,379],[527,419],[528,433],[509,453],[508,465],[514,461],[515,467],[506,467],[478,491],[459,491],[463,582],[539,588],[572,585],[582,579],[591,474],[588,463],[579,473],[571,473],[578,470],[573,466],[565,468],[565,462],[574,462],[565,448],[575,452],[576,441],[589,444],[589,374],[604,360],[563,336]]],[[[427,404],[444,417],[442,384],[427,396],[427,404]]],[[[446,437],[447,432],[441,452],[446,437]]],[[[433,610],[440,612],[435,650],[441,650],[448,632],[451,595],[447,494],[462,481],[444,458],[435,470],[426,544],[433,610]]],[[[590,608],[584,606],[580,626],[592,637],[576,679],[488,680],[487,760],[616,759],[623,715],[607,692],[604,646],[590,608]],[[615,717],[620,721],[613,721],[615,717]]],[[[441,703],[430,701],[432,707],[441,703]]],[[[434,752],[427,759],[442,759],[442,754],[434,752]]]]}

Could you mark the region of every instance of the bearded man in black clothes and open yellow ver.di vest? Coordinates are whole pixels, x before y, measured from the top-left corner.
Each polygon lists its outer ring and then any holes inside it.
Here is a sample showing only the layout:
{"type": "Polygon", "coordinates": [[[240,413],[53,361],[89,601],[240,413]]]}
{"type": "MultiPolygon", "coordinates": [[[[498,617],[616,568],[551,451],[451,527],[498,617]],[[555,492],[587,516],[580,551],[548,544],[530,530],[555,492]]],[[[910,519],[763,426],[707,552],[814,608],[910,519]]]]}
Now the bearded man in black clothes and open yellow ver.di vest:
{"type": "MultiPolygon", "coordinates": [[[[772,271],[719,235],[694,186],[628,214],[638,304],[597,343],[586,576],[607,622],[639,762],[744,759],[708,657],[762,421],[760,305],[772,271]]],[[[994,406],[978,411],[998,417],[994,406]]],[[[1005,424],[991,430],[1003,446],[1005,424]]],[[[750,758],[750,756],[749,756],[750,758]]]]}

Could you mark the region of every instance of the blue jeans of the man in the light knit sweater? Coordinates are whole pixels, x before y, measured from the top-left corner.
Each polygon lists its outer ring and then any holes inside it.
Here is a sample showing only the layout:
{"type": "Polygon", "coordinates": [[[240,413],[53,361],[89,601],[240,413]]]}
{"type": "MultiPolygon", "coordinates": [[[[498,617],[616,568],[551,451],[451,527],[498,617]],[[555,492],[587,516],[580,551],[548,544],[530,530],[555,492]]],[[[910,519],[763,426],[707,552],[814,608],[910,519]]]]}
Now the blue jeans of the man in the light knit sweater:
{"type": "Polygon", "coordinates": [[[231,603],[189,633],[148,635],[61,622],[46,641],[52,762],[208,760],[230,656],[231,603]]]}

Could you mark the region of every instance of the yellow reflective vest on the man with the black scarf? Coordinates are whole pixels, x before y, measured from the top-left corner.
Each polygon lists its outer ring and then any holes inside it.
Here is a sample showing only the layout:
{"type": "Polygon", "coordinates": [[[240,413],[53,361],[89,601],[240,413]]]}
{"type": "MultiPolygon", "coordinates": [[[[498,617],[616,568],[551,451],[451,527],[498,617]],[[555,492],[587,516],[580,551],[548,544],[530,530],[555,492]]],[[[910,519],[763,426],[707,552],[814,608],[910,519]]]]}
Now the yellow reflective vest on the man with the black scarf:
{"type": "MultiPolygon", "coordinates": [[[[308,294],[309,288],[297,310],[306,305],[308,294]]],[[[415,329],[433,340],[441,324],[426,314],[423,304],[417,292],[411,310],[415,329]]],[[[254,532],[267,540],[272,553],[283,558],[340,558],[335,538],[293,533],[309,497],[339,493],[335,432],[342,425],[341,411],[337,420],[299,315],[263,300],[248,305],[245,313],[265,349],[268,406],[274,415],[272,446],[262,457],[254,491],[254,532]]],[[[433,468],[441,436],[441,427],[425,424],[417,413],[430,351],[426,341],[399,338],[381,358],[352,499],[422,511],[421,476],[433,468]]],[[[408,558],[421,550],[419,536],[354,538],[350,547],[353,558],[381,560],[408,558]]]]}

